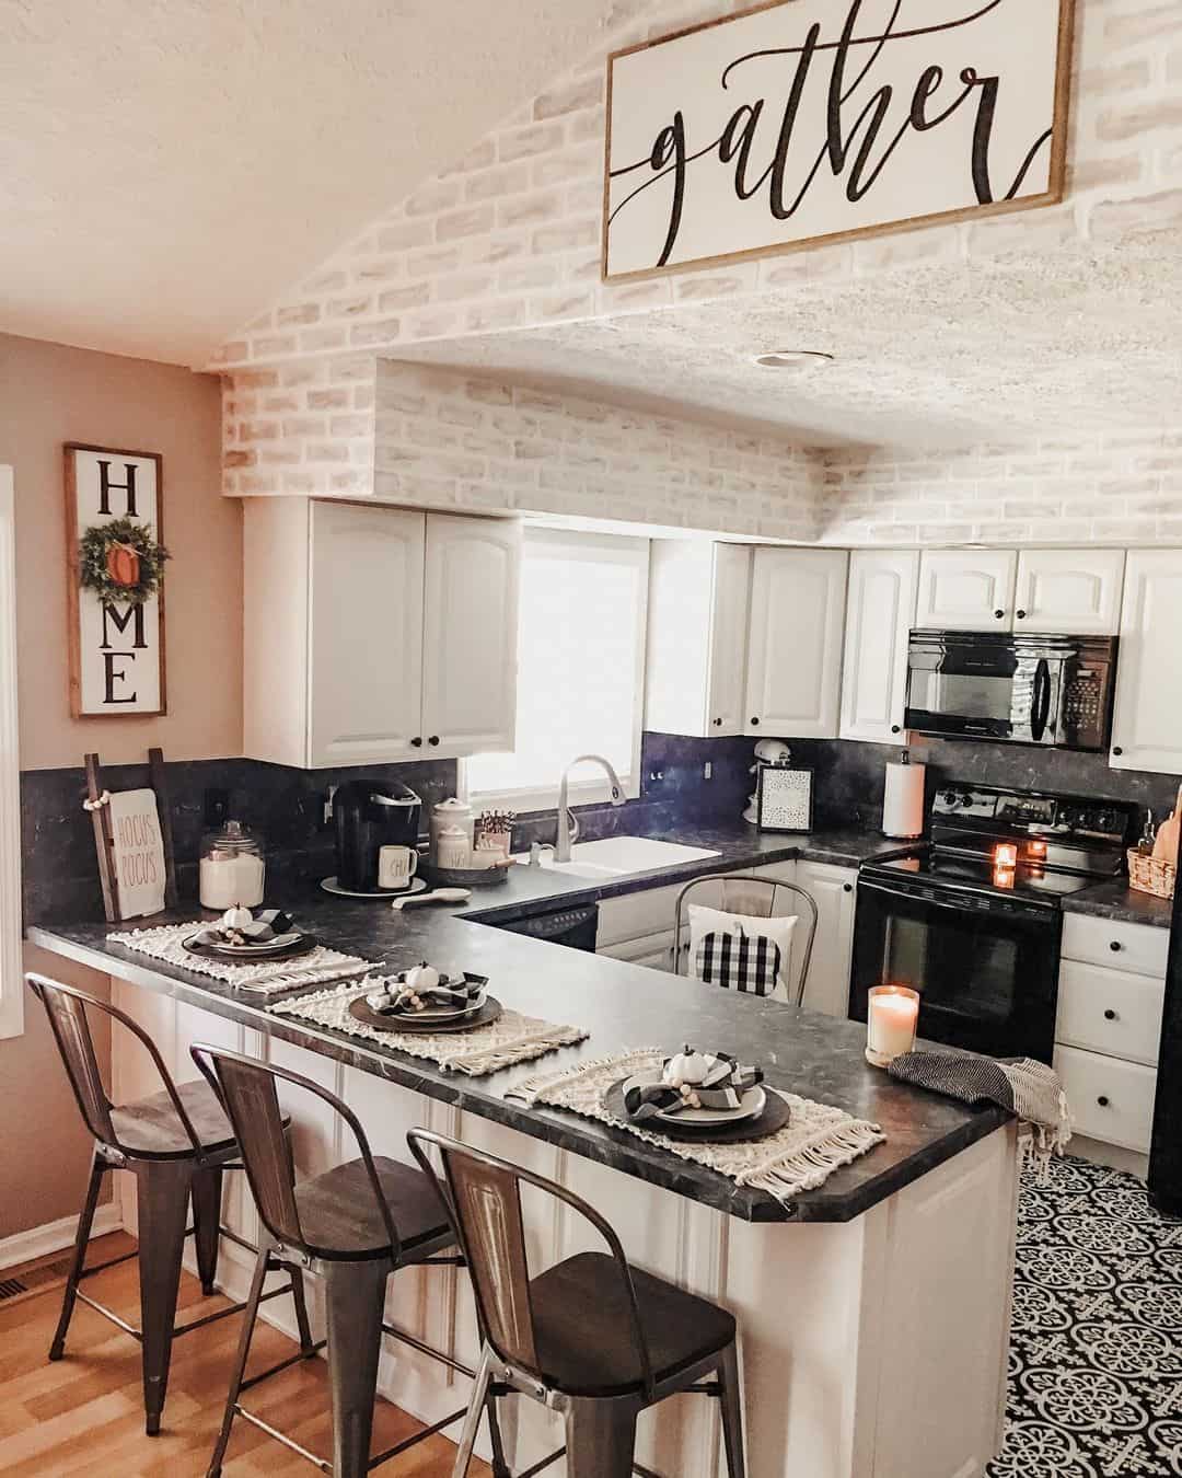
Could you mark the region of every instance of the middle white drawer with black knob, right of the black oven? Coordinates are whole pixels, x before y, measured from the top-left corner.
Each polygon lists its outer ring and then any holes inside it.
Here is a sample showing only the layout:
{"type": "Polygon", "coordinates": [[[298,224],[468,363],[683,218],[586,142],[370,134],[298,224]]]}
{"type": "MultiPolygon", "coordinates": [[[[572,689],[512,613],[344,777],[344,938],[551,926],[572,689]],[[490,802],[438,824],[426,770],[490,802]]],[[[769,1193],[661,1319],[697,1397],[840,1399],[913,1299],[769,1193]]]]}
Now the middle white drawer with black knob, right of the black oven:
{"type": "Polygon", "coordinates": [[[1157,1067],[1164,1001],[1166,983],[1152,975],[1065,959],[1055,1041],[1157,1067]]]}

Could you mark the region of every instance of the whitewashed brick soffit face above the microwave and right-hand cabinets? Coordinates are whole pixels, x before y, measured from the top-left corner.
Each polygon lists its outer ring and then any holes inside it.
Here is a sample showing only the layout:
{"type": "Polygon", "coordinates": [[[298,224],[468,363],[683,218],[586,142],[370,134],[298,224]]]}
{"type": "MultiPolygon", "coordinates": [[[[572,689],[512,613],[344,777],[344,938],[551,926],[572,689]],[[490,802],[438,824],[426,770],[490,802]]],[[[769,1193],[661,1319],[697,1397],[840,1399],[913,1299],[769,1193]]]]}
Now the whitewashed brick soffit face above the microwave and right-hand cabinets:
{"type": "Polygon", "coordinates": [[[1182,544],[1182,429],[829,457],[826,544],[1182,544]]]}

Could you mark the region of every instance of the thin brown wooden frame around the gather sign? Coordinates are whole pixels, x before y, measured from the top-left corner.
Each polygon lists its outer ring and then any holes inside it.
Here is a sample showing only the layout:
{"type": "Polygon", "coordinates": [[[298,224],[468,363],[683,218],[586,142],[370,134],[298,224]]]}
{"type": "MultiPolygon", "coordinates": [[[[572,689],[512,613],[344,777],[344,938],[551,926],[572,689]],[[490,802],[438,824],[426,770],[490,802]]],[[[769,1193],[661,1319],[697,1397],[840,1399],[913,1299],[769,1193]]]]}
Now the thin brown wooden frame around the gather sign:
{"type": "MultiPolygon", "coordinates": [[[[847,0],[851,3],[851,0],[847,0]]],[[[969,0],[965,0],[966,7],[971,9],[969,0]]],[[[978,0],[980,3],[980,0],[978,0]]],[[[1002,4],[1003,0],[994,0],[994,4],[1002,4]]],[[[1022,0],[1014,0],[1015,9],[1022,3],[1022,0]]],[[[1052,140],[1051,140],[1051,158],[1049,158],[1049,188],[1037,195],[1019,197],[1015,200],[997,200],[987,204],[954,207],[949,210],[931,211],[926,214],[904,216],[894,220],[884,220],[875,225],[857,226],[851,229],[832,231],[817,235],[804,236],[793,241],[777,241],[777,242],[762,242],[751,247],[736,247],[733,251],[715,251],[712,254],[693,256],[686,260],[669,260],[666,263],[657,263],[650,268],[637,268],[613,272],[609,266],[610,259],[610,228],[612,228],[612,124],[613,124],[613,105],[616,101],[616,64],[624,58],[634,56],[640,52],[650,52],[671,41],[680,41],[684,37],[696,35],[705,31],[714,31],[720,27],[730,27],[740,24],[752,16],[762,15],[764,12],[779,10],[788,6],[793,9],[799,4],[799,0],[761,0],[758,4],[752,4],[746,10],[734,12],[733,15],[722,15],[714,21],[703,21],[697,25],[687,25],[677,31],[671,31],[666,35],[653,37],[647,41],[638,41],[634,46],[622,47],[621,50],[612,52],[607,58],[607,114],[606,114],[606,129],[604,129],[604,166],[603,166],[603,225],[600,238],[600,281],[612,284],[624,282],[638,282],[653,276],[666,276],[675,272],[700,272],[709,268],[718,268],[724,265],[731,265],[737,262],[749,262],[767,256],[785,256],[795,251],[807,251],[813,247],[835,245],[845,241],[860,241],[869,236],[895,235],[900,232],[920,231],[925,226],[956,223],[971,219],[987,219],[990,216],[1005,216],[1014,214],[1022,210],[1037,210],[1048,205],[1058,205],[1067,198],[1067,157],[1068,157],[1068,123],[1070,123],[1070,105],[1071,105],[1071,71],[1074,62],[1074,38],[1076,38],[1076,0],[1051,0],[1051,3],[1058,4],[1058,46],[1056,46],[1056,72],[1055,72],[1055,87],[1053,87],[1053,111],[1052,111],[1052,140]]],[[[836,4],[835,4],[836,9],[836,4]]],[[[966,19],[978,19],[977,15],[969,15],[966,19]]],[[[1021,38],[1021,33],[1018,33],[1021,38]]],[[[739,101],[736,98],[736,101],[739,101]]],[[[932,102],[932,106],[935,103],[932,102]]],[[[653,145],[656,149],[656,143],[653,145]]],[[[709,151],[703,151],[709,152],[709,151]]],[[[693,158],[693,154],[690,154],[693,158]]]]}

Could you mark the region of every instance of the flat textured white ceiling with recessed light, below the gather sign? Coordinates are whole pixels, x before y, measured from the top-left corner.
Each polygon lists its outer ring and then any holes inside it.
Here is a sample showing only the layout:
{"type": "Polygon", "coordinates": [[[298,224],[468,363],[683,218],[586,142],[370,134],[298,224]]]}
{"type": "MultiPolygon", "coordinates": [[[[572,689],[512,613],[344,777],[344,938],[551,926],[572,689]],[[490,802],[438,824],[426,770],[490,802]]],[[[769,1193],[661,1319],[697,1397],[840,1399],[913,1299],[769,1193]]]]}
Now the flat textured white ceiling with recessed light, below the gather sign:
{"type": "Polygon", "coordinates": [[[965,446],[1175,424],[1182,248],[1167,236],[765,290],[403,358],[771,426],[816,446],[965,446]],[[836,355],[765,370],[776,349],[836,355]]]}

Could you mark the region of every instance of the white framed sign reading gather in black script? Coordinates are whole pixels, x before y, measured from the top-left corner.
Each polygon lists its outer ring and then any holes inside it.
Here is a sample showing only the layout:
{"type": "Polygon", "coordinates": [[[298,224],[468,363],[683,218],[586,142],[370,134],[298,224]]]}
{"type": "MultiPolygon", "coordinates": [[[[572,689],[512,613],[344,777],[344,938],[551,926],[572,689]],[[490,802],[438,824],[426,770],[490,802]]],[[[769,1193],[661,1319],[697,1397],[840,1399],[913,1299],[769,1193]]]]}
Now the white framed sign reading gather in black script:
{"type": "Polygon", "coordinates": [[[1074,0],[774,0],[607,64],[603,278],[1065,194],[1074,0]]]}

